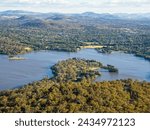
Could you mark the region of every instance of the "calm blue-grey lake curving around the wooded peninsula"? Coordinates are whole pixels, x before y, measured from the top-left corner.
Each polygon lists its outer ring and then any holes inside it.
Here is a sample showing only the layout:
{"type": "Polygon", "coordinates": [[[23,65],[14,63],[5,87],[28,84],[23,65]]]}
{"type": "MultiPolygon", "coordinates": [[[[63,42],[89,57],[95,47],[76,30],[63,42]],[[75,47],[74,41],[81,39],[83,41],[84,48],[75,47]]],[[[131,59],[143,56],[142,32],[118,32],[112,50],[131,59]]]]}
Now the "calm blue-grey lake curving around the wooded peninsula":
{"type": "Polygon", "coordinates": [[[119,69],[118,74],[101,69],[102,76],[97,77],[96,81],[132,78],[150,82],[150,62],[122,52],[102,54],[94,49],[83,49],[78,52],[38,51],[21,57],[26,60],[9,60],[8,56],[0,55],[0,90],[52,77],[50,70],[52,65],[73,57],[97,60],[104,65],[111,64],[119,69]]]}

